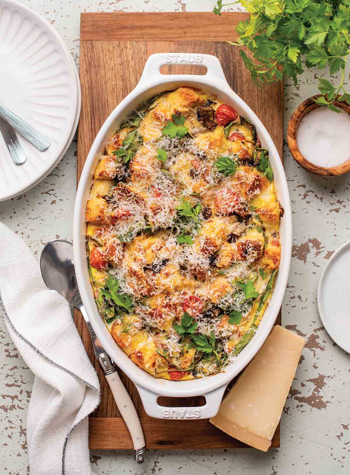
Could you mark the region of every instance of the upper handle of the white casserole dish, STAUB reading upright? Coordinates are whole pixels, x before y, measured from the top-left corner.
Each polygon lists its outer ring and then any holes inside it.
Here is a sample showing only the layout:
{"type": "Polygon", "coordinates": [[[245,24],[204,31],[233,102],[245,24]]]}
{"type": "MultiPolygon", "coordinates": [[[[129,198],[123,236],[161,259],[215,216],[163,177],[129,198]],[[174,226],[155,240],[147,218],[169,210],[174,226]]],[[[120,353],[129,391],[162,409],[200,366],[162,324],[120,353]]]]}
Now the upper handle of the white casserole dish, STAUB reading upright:
{"type": "MultiPolygon", "coordinates": [[[[213,55],[202,55],[196,53],[156,53],[148,57],[145,67],[142,71],[142,76],[138,83],[138,86],[147,84],[151,78],[174,76],[172,74],[161,74],[160,68],[163,65],[190,65],[190,66],[206,66],[207,73],[204,76],[197,75],[184,75],[191,77],[206,77],[215,78],[215,81],[223,81],[227,84],[224,71],[222,70],[220,61],[213,55]]],[[[180,75],[181,76],[181,75],[180,75]]]]}

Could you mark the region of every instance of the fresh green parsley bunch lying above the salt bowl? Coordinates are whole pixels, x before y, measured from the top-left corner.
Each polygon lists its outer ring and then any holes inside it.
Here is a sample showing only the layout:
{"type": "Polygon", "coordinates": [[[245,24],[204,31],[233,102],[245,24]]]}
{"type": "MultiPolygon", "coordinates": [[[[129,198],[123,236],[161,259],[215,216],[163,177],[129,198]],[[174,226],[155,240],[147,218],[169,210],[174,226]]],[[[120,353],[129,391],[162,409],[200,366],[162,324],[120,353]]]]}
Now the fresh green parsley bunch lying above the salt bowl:
{"type": "Polygon", "coordinates": [[[222,7],[236,3],[241,3],[251,17],[238,23],[239,37],[229,43],[252,51],[253,61],[243,50],[240,55],[255,84],[281,81],[285,74],[297,85],[305,67],[329,66],[331,75],[342,70],[341,82],[334,87],[330,81],[319,79],[322,96],[315,102],[335,112],[341,112],[334,105],[336,99],[350,104],[350,93],[344,87],[350,0],[240,0],[226,4],[218,0],[213,11],[221,15],[222,7]]]}

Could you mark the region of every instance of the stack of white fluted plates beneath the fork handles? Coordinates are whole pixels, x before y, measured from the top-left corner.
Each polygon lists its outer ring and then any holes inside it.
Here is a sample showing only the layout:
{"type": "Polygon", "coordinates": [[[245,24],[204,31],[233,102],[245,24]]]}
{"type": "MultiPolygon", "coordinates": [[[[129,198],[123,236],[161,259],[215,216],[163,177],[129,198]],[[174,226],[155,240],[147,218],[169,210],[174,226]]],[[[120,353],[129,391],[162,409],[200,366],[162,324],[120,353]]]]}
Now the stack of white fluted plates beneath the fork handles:
{"type": "Polygon", "coordinates": [[[62,38],[45,19],[13,0],[0,0],[0,102],[47,135],[39,152],[19,134],[27,154],[15,165],[0,136],[0,201],[45,178],[70,145],[80,114],[80,84],[62,38]]]}

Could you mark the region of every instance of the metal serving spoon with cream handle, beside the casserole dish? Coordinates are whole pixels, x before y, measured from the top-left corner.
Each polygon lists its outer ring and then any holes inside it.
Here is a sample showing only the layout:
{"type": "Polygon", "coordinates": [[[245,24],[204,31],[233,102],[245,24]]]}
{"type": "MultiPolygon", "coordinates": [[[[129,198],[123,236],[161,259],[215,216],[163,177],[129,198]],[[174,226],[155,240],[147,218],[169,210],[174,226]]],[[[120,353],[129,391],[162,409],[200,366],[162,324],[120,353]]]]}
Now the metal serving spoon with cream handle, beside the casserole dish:
{"type": "Polygon", "coordinates": [[[56,290],[67,300],[68,304],[75,306],[83,314],[93,342],[96,359],[100,363],[104,376],[112,390],[115,403],[129,429],[135,451],[135,461],[138,464],[143,464],[146,447],[140,419],[129,393],[119,378],[114,363],[104,351],[85,311],[76,283],[72,243],[61,239],[48,242],[41,252],[40,269],[47,287],[56,290]]]}

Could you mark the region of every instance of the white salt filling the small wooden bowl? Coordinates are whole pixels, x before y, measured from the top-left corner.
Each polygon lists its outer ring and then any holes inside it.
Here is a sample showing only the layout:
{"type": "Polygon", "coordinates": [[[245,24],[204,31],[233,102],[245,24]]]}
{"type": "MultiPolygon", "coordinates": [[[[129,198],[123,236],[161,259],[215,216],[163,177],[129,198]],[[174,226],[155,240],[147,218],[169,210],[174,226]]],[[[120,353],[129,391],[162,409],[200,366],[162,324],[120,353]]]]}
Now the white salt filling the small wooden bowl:
{"type": "Polygon", "coordinates": [[[319,167],[337,167],[350,159],[350,115],[317,107],[305,115],[297,132],[298,148],[319,167]]]}

